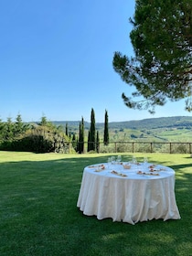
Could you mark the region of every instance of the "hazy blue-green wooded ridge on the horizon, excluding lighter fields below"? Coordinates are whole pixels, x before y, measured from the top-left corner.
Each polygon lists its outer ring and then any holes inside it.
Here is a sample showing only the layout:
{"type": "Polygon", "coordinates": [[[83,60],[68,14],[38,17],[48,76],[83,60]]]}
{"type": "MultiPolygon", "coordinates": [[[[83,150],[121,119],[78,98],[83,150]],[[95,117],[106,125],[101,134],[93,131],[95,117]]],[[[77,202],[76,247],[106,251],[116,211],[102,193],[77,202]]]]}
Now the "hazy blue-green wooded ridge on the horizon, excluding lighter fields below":
{"type": "MultiPolygon", "coordinates": [[[[80,121],[53,121],[56,125],[65,126],[68,123],[69,130],[79,129],[80,121]]],[[[89,122],[84,122],[85,129],[90,128],[89,122]]],[[[104,123],[96,123],[96,129],[103,129],[104,123]]],[[[143,120],[133,120],[124,122],[109,123],[109,129],[157,129],[157,128],[192,128],[192,116],[172,116],[148,118],[143,120]]]]}

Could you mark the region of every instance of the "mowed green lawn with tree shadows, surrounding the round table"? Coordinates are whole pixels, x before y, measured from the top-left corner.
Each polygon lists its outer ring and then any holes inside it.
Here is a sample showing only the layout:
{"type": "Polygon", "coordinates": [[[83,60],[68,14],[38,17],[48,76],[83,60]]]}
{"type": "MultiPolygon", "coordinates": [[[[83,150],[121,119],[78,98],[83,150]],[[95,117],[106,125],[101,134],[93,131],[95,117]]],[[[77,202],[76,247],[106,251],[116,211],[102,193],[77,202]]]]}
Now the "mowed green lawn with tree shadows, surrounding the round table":
{"type": "MultiPolygon", "coordinates": [[[[77,208],[83,168],[108,156],[0,152],[0,255],[192,255],[190,155],[145,155],[175,169],[181,219],[135,225],[77,208]]],[[[123,154],[123,161],[131,157],[123,154]]]]}

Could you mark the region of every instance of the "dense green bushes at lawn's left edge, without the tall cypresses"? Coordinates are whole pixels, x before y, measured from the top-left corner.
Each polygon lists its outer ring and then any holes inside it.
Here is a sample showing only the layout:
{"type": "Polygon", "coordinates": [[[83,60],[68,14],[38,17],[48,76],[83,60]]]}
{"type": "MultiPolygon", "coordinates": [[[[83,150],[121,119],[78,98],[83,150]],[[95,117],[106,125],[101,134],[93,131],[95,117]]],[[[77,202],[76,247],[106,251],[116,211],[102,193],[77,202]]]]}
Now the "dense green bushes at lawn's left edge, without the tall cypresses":
{"type": "Polygon", "coordinates": [[[1,150],[36,153],[69,151],[69,138],[60,127],[48,122],[45,116],[38,124],[27,125],[22,122],[20,115],[16,117],[16,123],[8,118],[6,123],[0,124],[1,150]]]}

